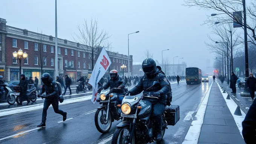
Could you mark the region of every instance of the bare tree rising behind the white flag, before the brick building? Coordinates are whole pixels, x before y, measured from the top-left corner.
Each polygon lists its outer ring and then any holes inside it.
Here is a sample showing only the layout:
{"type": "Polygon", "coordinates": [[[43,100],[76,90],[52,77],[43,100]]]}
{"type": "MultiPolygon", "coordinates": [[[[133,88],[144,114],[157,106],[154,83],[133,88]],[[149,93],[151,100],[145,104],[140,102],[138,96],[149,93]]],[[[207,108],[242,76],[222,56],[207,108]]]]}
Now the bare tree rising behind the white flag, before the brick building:
{"type": "Polygon", "coordinates": [[[76,42],[82,43],[81,47],[88,53],[90,64],[89,68],[94,68],[94,63],[101,50],[101,45],[110,37],[104,30],[99,30],[97,20],[91,19],[90,23],[84,20],[82,26],[77,26],[79,33],[76,35],[76,42]]]}

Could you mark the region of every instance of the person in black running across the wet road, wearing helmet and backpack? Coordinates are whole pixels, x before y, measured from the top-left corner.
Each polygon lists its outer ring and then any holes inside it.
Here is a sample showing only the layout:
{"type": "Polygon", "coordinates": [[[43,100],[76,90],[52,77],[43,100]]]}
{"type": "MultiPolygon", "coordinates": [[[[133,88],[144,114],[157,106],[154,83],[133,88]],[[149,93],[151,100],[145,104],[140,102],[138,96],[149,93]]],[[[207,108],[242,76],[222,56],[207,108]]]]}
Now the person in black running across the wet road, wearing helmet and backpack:
{"type": "Polygon", "coordinates": [[[59,110],[59,91],[58,85],[55,81],[51,78],[50,74],[44,73],[41,77],[43,82],[43,87],[38,94],[38,97],[45,98],[44,100],[44,107],[43,107],[43,114],[42,114],[42,122],[37,127],[45,127],[46,126],[46,115],[47,110],[50,105],[52,105],[53,110],[57,114],[61,114],[63,116],[63,121],[67,119],[67,112],[59,110]],[[42,96],[43,93],[46,93],[46,96],[42,96]]]}

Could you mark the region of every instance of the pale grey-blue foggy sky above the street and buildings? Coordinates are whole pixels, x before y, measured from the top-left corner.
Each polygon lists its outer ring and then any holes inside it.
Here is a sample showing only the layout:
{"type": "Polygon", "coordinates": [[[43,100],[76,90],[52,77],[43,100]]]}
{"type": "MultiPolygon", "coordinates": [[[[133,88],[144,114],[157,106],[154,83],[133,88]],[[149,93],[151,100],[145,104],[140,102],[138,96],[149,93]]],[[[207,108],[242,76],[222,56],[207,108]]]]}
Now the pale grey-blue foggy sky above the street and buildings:
{"type": "MultiPolygon", "coordinates": [[[[0,18],[8,26],[42,30],[44,34],[55,36],[55,0],[0,0],[0,18]]],[[[161,62],[168,57],[184,57],[180,60],[187,66],[206,67],[206,59],[213,64],[213,54],[204,42],[209,41],[211,29],[201,26],[206,15],[214,11],[185,7],[182,0],[57,0],[58,37],[73,41],[76,26],[84,18],[98,19],[100,29],[111,37],[114,51],[128,54],[128,33],[130,35],[130,55],[134,62],[142,62],[144,51],[149,49],[153,58],[161,62]]],[[[178,58],[175,58],[178,63],[178,58]]]]}

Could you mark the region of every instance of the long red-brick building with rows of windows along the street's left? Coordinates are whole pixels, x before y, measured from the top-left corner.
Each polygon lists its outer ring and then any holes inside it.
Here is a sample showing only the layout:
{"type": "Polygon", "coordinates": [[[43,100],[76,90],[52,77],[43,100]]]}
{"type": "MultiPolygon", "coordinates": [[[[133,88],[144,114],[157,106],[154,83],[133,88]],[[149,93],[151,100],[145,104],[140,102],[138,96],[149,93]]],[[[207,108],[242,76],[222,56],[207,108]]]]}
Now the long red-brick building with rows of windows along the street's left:
{"type": "MultiPolygon", "coordinates": [[[[69,75],[72,81],[80,75],[90,77],[92,72],[90,58],[84,47],[85,45],[80,43],[58,38],[59,76],[69,75]]],[[[55,74],[55,37],[6,26],[6,20],[0,18],[0,75],[3,75],[6,81],[19,80],[20,63],[12,56],[12,52],[18,52],[19,49],[28,54],[27,59],[21,61],[21,73],[26,74],[27,77],[40,77],[42,68],[43,73],[55,74]]],[[[112,62],[110,69],[120,71],[121,65],[128,66],[127,55],[115,52],[108,54],[112,62]]],[[[133,56],[130,55],[131,70],[132,62],[133,56]]],[[[127,71],[128,69],[125,69],[126,74],[127,71]]]]}

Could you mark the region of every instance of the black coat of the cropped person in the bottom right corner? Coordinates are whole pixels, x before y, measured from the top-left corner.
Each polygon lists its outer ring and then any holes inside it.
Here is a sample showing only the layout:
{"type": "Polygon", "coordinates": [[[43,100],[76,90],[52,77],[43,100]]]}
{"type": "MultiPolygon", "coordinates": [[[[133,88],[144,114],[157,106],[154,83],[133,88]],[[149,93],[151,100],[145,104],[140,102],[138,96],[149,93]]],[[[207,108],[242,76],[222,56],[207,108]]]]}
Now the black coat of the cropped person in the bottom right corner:
{"type": "Polygon", "coordinates": [[[242,122],[242,134],[247,144],[255,144],[256,140],[256,100],[253,101],[244,121],[242,122]]]}

